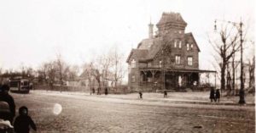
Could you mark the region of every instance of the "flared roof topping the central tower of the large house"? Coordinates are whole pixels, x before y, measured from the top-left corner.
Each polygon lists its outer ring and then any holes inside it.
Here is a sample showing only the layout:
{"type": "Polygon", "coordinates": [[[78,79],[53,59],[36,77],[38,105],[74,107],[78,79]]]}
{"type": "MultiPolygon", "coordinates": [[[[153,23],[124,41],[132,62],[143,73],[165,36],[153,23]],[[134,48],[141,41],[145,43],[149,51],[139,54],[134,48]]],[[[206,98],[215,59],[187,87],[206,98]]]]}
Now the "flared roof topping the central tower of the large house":
{"type": "Polygon", "coordinates": [[[166,23],[182,23],[187,25],[179,13],[163,13],[157,25],[164,25],[166,23]]]}

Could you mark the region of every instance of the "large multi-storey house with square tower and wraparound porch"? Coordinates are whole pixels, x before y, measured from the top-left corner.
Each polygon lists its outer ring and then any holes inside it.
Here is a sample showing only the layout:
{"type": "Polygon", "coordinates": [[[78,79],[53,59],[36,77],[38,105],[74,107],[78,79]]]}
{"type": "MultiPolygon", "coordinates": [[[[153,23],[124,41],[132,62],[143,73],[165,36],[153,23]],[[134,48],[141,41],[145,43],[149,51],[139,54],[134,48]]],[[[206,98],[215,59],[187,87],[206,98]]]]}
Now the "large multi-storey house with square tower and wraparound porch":
{"type": "Polygon", "coordinates": [[[185,33],[187,23],[178,13],[163,13],[156,25],[149,24],[148,38],[131,49],[128,86],[133,91],[172,90],[198,86],[200,48],[192,33],[185,33]]]}

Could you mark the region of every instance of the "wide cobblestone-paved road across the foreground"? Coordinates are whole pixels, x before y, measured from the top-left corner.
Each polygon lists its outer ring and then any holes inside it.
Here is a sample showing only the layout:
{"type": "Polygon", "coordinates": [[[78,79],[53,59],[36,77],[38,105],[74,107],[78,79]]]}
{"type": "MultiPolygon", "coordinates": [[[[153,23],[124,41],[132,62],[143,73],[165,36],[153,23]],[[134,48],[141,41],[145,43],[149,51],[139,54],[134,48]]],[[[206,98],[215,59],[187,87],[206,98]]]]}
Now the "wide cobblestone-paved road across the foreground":
{"type": "Polygon", "coordinates": [[[38,132],[255,132],[254,107],[147,103],[37,91],[12,95],[17,109],[29,108],[38,132]]]}

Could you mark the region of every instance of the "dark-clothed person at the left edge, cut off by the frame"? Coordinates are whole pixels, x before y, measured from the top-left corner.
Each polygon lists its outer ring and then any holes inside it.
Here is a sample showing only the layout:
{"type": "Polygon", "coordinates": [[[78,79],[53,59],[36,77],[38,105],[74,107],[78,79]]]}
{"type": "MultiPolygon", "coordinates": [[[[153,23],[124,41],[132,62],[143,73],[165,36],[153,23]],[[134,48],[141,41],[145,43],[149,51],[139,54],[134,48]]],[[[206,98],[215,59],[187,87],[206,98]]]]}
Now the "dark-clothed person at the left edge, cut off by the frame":
{"type": "Polygon", "coordinates": [[[0,115],[1,117],[8,118],[6,120],[9,120],[9,122],[12,124],[15,118],[15,100],[12,96],[9,95],[8,85],[0,86],[0,101],[6,102],[9,104],[9,114],[0,114],[0,115]]]}

